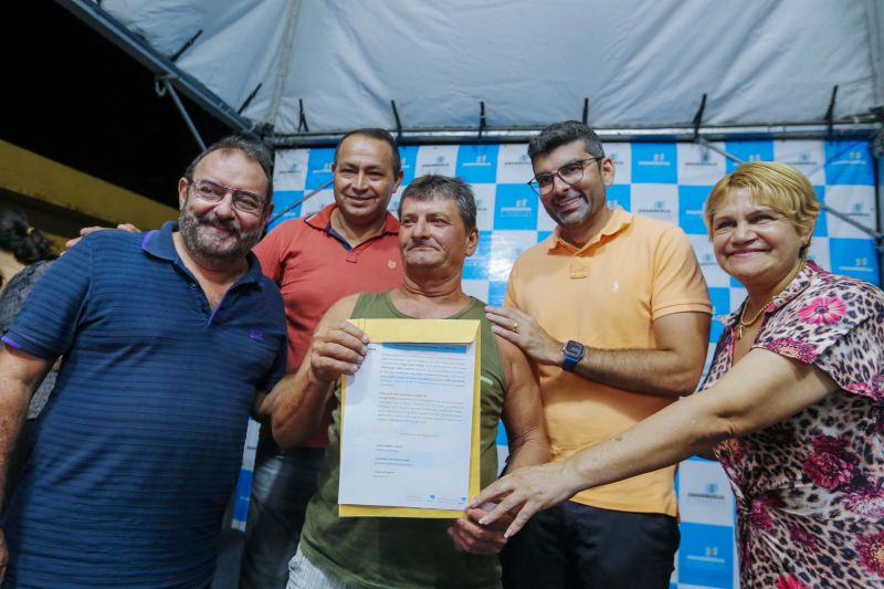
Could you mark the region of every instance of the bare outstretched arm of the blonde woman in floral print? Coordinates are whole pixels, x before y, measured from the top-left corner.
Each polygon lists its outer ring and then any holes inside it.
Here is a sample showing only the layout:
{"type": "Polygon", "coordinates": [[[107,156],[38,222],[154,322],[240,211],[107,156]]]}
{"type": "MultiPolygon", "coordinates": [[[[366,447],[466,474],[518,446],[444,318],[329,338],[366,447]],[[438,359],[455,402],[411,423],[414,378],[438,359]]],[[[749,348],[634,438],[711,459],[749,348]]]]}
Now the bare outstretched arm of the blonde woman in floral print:
{"type": "Polygon", "coordinates": [[[485,488],[471,505],[501,499],[483,524],[519,509],[506,532],[509,537],[535,513],[578,491],[674,464],[727,438],[788,419],[835,390],[838,385],[812,365],[753,349],[714,387],[569,460],[507,475],[485,488]]]}

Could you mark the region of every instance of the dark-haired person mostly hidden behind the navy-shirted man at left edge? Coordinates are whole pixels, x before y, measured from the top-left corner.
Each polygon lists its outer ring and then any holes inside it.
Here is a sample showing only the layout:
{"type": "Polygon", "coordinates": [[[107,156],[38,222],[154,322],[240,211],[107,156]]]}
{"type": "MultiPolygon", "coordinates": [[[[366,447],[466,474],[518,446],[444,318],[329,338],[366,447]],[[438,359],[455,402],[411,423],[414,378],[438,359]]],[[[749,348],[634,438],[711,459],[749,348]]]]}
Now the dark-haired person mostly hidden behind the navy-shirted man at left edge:
{"type": "MultiPolygon", "coordinates": [[[[18,315],[24,299],[36,281],[49,270],[55,250],[39,230],[28,222],[28,217],[15,207],[0,206],[0,336],[7,333],[12,319],[18,315]]],[[[0,343],[2,346],[2,343],[0,343]]],[[[28,408],[28,417],[18,444],[10,455],[9,473],[6,481],[4,497],[21,476],[33,440],[34,420],[49,400],[55,386],[55,369],[34,392],[28,408]]],[[[2,513],[0,505],[0,513],[2,513]]]]}

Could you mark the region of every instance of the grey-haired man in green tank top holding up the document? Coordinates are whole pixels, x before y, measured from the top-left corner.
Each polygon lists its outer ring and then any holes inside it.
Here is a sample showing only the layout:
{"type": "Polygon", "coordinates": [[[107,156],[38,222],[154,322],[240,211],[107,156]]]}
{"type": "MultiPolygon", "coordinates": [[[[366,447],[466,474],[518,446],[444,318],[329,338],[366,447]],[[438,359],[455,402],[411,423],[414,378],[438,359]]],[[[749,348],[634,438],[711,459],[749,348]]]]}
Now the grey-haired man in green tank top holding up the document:
{"type": "MultiPolygon", "coordinates": [[[[464,260],[478,243],[476,207],[457,178],[424,176],[402,193],[399,246],[404,282],[386,293],[347,296],[329,308],[301,369],[271,396],[273,434],[281,446],[312,432],[326,403],[339,404],[336,386],[367,351],[351,317],[480,319],[481,481],[497,475],[495,437],[503,419],[509,440],[507,470],[549,460],[537,382],[517,347],[495,336],[484,304],[461,287],[464,260]]],[[[495,556],[508,523],[477,524],[483,509],[456,520],[338,516],[340,410],[333,412],[319,491],[307,507],[301,546],[290,564],[288,588],[412,588],[499,586],[495,556]]]]}

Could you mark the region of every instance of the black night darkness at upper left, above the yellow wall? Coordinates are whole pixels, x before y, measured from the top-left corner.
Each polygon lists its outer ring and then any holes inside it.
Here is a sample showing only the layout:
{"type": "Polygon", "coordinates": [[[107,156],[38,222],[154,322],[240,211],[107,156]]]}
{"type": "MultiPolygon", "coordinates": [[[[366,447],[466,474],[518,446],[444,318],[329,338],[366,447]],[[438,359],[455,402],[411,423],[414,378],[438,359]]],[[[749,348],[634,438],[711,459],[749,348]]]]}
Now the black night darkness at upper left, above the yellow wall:
{"type": "MultiPolygon", "coordinates": [[[[3,3],[0,139],[178,208],[200,147],[154,74],[51,0],[3,3]]],[[[207,144],[230,129],[180,92],[207,144]]]]}

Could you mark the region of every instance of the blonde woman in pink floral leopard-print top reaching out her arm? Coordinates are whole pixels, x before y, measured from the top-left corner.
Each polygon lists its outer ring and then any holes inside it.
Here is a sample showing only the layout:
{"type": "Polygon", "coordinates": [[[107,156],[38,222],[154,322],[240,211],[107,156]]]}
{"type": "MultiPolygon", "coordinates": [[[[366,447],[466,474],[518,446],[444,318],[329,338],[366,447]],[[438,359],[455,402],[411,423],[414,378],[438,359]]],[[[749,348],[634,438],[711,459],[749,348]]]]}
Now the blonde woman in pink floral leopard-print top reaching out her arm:
{"type": "Polygon", "coordinates": [[[718,264],[748,293],[702,393],[476,499],[513,535],[571,494],[712,450],[737,498],[741,587],[884,586],[884,293],[806,262],[820,204],[782,164],[751,162],[713,189],[718,264]]]}

